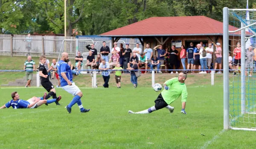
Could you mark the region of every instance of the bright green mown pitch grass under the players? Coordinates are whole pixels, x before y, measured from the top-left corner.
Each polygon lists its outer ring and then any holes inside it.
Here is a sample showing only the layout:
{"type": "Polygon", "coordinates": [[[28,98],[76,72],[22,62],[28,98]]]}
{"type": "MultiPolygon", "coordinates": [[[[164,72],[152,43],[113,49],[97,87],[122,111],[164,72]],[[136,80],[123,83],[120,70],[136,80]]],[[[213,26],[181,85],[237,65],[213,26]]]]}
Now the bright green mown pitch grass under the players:
{"type": "MultiPolygon", "coordinates": [[[[63,97],[60,107],[53,103],[37,109],[1,110],[0,148],[245,149],[255,146],[254,132],[220,133],[223,129],[222,87],[194,84],[197,85],[199,87],[187,88],[187,115],[180,113],[180,98],[172,104],[175,107],[172,114],[166,109],[147,115],[128,114],[128,110],[148,109],[158,96],[150,88],[134,89],[131,84],[118,90],[81,89],[83,105],[91,111],[81,114],[74,105],[68,114],[64,106],[73,96],[57,88],[57,94],[63,97]]],[[[0,89],[1,105],[10,100],[14,90],[22,99],[44,93],[42,88],[0,89]]]]}

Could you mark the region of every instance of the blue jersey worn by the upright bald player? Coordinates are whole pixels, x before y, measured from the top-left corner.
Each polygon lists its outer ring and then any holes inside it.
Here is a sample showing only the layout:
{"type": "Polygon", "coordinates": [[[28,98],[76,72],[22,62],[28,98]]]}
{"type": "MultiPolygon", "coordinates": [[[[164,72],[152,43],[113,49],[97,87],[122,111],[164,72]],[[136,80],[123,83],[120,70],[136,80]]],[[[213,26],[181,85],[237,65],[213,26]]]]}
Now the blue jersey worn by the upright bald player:
{"type": "Polygon", "coordinates": [[[67,76],[67,79],[69,79],[70,82],[73,82],[72,79],[73,79],[73,74],[72,74],[72,71],[70,69],[70,66],[67,65],[66,62],[64,62],[63,60],[60,60],[57,64],[57,69],[58,69],[58,75],[61,79],[61,86],[64,87],[67,84],[67,81],[64,80],[64,78],[61,76],[61,73],[65,73],[66,76],[67,76]]]}

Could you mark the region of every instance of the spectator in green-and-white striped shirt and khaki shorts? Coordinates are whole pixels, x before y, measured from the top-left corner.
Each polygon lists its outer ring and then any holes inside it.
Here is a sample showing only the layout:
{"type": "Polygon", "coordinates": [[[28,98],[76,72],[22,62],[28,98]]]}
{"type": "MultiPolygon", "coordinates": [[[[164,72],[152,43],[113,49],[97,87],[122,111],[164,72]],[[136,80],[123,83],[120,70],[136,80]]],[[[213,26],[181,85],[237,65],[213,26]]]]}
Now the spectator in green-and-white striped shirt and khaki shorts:
{"type": "Polygon", "coordinates": [[[35,61],[32,60],[31,56],[28,56],[28,59],[24,62],[24,71],[26,71],[26,85],[25,87],[31,87],[30,83],[33,78],[33,71],[35,71],[35,61]]]}

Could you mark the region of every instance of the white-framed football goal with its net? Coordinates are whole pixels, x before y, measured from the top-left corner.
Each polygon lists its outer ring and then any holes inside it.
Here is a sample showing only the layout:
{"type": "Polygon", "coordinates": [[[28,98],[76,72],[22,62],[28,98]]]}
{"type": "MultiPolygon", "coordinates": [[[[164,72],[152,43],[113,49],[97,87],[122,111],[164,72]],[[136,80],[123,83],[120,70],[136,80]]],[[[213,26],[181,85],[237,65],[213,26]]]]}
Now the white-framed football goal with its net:
{"type": "Polygon", "coordinates": [[[223,12],[224,129],[256,130],[256,10],[223,12]]]}

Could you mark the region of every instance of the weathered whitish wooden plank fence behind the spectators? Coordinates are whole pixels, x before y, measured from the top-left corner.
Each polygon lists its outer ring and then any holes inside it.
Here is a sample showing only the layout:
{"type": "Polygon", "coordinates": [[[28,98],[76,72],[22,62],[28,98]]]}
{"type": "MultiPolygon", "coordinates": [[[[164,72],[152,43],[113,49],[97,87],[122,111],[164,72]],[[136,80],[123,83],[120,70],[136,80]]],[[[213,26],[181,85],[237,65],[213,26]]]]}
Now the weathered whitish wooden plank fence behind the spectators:
{"type": "MultiPolygon", "coordinates": [[[[66,39],[76,39],[75,37],[66,37],[66,39]]],[[[74,58],[76,56],[77,51],[81,51],[81,53],[88,52],[86,45],[90,45],[92,42],[95,44],[95,48],[97,51],[100,51],[102,47],[102,42],[105,41],[106,45],[108,45],[111,49],[113,45],[111,44],[111,40],[108,37],[79,37],[76,40],[66,41],[66,44],[62,44],[64,40],[63,36],[39,36],[39,35],[31,35],[31,37],[27,37],[27,35],[13,35],[10,34],[0,34],[0,55],[1,56],[27,56],[31,55],[33,57],[39,57],[41,55],[45,55],[47,57],[56,58],[58,57],[61,46],[62,51],[66,51],[69,53],[70,58],[74,58]],[[79,39],[92,39],[93,41],[84,41],[79,39]],[[78,44],[76,43],[78,42],[78,44]],[[77,47],[76,47],[77,44],[77,47]]],[[[136,43],[139,43],[140,48],[143,46],[140,43],[139,39],[128,39],[121,38],[119,39],[118,46],[123,44],[123,48],[125,48],[125,43],[129,43],[129,48],[133,49],[136,47],[136,43]]]]}

